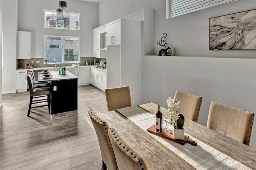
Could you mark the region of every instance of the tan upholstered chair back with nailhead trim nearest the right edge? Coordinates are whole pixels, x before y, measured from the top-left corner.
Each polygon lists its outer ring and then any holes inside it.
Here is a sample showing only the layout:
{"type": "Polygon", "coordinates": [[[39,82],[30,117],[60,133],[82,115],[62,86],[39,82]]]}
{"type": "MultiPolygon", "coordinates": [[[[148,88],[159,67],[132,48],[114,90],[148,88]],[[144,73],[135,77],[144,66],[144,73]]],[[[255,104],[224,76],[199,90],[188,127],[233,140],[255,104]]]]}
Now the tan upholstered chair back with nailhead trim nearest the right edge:
{"type": "Polygon", "coordinates": [[[212,101],[207,127],[249,145],[254,113],[212,101]]]}

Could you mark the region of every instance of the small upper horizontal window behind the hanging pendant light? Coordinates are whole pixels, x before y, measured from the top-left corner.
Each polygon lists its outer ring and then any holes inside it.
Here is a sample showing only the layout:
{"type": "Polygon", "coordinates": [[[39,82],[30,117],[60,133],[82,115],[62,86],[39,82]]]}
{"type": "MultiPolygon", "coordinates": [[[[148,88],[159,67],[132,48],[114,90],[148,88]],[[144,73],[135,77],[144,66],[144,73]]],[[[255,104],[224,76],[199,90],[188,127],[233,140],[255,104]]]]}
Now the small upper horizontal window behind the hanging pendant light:
{"type": "Polygon", "coordinates": [[[80,30],[80,14],[63,12],[57,15],[54,10],[44,10],[44,28],[80,30]]]}

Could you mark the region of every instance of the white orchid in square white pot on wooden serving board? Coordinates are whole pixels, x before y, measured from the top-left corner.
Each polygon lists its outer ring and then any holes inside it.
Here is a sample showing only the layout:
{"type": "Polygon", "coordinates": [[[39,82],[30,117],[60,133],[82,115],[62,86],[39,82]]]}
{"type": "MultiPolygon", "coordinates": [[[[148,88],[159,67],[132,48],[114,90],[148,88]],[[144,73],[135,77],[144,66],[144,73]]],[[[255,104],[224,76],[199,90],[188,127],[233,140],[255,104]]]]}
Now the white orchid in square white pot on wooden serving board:
{"type": "Polygon", "coordinates": [[[176,99],[171,97],[167,99],[166,104],[168,111],[171,113],[170,124],[173,125],[173,137],[174,139],[184,140],[184,122],[185,118],[182,114],[178,114],[176,111],[181,106],[181,102],[177,102],[176,99]]]}

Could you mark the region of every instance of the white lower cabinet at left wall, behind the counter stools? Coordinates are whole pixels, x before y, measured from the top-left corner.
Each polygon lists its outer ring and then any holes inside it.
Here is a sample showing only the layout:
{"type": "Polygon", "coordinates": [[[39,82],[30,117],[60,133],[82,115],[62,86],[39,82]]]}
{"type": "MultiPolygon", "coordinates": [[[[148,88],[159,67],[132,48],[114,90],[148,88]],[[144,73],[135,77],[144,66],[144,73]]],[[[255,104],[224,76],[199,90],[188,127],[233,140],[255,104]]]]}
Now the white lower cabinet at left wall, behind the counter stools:
{"type": "Polygon", "coordinates": [[[16,90],[27,91],[27,70],[16,70],[16,90]]]}

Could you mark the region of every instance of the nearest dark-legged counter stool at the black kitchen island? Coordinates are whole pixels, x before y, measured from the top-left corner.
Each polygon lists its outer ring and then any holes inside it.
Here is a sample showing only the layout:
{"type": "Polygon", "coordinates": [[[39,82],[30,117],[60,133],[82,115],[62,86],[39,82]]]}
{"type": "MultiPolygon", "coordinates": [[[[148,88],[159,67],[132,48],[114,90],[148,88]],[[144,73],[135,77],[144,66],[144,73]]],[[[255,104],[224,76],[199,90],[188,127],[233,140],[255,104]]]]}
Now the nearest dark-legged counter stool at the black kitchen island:
{"type": "Polygon", "coordinates": [[[51,103],[51,97],[50,97],[50,87],[41,87],[41,88],[34,88],[34,82],[32,80],[32,75],[28,74],[27,75],[27,81],[28,81],[28,88],[29,88],[29,94],[30,94],[30,102],[29,102],[29,107],[28,107],[28,117],[30,115],[30,110],[32,108],[36,107],[44,107],[48,106],[48,111],[50,113],[50,103],[51,103]],[[42,98],[46,97],[46,99],[39,99],[39,100],[34,100],[35,98],[42,98]],[[32,104],[39,104],[43,102],[48,102],[47,105],[40,105],[40,106],[32,106],[32,104]]]}

